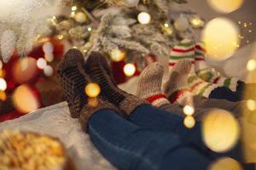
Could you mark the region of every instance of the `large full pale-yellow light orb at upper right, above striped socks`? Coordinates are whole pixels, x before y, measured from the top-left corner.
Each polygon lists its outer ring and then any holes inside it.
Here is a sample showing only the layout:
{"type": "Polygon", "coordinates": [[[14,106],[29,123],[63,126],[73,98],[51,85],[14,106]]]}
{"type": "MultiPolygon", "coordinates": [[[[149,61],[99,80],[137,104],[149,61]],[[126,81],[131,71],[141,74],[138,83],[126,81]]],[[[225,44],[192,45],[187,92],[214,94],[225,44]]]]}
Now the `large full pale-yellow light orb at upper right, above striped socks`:
{"type": "Polygon", "coordinates": [[[239,30],[232,20],[221,17],[209,21],[202,33],[207,57],[217,60],[230,58],[240,44],[238,35],[239,30]]]}

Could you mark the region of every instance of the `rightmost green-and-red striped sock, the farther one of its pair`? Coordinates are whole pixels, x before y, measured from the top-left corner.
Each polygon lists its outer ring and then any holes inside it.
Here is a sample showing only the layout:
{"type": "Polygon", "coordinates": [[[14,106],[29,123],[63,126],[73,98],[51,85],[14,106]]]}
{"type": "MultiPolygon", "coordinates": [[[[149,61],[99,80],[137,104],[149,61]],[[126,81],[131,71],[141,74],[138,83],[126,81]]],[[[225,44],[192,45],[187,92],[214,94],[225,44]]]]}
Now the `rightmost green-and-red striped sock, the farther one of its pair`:
{"type": "Polygon", "coordinates": [[[195,45],[195,72],[197,76],[206,82],[219,84],[220,86],[230,88],[232,91],[236,91],[238,79],[235,77],[221,77],[216,72],[211,71],[207,67],[205,53],[204,44],[197,42],[195,45]]]}

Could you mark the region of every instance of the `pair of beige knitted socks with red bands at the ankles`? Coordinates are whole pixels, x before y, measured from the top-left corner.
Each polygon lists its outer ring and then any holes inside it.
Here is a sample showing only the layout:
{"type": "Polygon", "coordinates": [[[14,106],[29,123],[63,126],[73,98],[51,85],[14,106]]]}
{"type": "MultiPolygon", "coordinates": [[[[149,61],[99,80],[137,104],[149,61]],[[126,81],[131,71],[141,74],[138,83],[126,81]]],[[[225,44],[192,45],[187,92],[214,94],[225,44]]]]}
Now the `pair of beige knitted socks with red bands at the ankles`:
{"type": "Polygon", "coordinates": [[[164,85],[163,93],[163,66],[158,63],[148,65],[139,77],[136,95],[156,107],[176,102],[179,105],[193,105],[194,94],[189,92],[187,82],[190,70],[191,63],[188,59],[178,60],[164,85]]]}

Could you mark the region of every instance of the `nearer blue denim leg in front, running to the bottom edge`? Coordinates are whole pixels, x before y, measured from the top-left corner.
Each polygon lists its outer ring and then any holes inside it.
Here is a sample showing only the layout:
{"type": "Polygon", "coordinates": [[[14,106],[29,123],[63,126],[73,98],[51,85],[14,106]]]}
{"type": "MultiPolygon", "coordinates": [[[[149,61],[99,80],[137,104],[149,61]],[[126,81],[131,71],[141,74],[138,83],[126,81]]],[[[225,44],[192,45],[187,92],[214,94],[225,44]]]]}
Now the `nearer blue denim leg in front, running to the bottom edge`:
{"type": "Polygon", "coordinates": [[[102,156],[119,169],[205,170],[210,164],[207,156],[177,135],[138,127],[112,110],[90,117],[89,134],[102,156]]]}

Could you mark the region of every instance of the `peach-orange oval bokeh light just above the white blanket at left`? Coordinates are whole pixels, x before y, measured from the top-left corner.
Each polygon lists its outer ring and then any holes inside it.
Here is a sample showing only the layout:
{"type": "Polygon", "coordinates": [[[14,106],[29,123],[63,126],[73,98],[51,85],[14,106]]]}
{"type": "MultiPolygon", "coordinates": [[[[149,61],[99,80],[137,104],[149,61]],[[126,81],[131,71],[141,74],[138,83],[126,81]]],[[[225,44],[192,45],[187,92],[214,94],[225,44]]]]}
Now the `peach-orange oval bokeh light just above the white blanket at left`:
{"type": "Polygon", "coordinates": [[[37,95],[26,84],[20,85],[15,89],[12,99],[15,109],[21,113],[35,111],[40,105],[37,95]]]}

